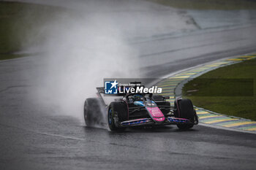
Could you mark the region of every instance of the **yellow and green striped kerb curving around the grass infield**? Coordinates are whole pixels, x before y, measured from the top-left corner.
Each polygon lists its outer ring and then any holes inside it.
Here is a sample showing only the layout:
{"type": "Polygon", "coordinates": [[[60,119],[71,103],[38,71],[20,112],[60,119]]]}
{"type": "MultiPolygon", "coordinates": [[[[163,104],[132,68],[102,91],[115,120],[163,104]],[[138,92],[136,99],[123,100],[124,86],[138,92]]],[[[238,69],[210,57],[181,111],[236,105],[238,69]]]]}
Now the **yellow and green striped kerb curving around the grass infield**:
{"type": "MultiPolygon", "coordinates": [[[[238,63],[241,61],[246,61],[256,58],[256,54],[243,55],[237,58],[227,58],[213,63],[206,63],[201,66],[197,66],[193,69],[174,74],[165,80],[157,83],[159,88],[162,88],[163,96],[170,96],[170,104],[174,104],[176,98],[181,96],[181,89],[187,79],[193,79],[200,76],[203,73],[209,72],[213,69],[217,69],[221,66],[227,66],[233,63],[238,63]]],[[[195,107],[197,115],[199,117],[199,122],[201,125],[216,126],[219,128],[230,128],[235,131],[246,131],[256,134],[256,121],[244,119],[241,117],[233,117],[230,115],[219,114],[216,112],[211,112],[203,108],[195,107]]]]}

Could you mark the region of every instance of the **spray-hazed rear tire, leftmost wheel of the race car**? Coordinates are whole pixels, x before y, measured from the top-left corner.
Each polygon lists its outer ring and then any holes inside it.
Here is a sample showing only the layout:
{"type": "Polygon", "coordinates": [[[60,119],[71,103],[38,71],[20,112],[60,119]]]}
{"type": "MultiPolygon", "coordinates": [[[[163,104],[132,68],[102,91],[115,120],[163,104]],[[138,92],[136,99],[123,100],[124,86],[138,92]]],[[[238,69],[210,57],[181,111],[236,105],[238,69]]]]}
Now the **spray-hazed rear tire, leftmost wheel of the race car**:
{"type": "Polygon", "coordinates": [[[104,124],[104,104],[99,98],[87,98],[84,103],[83,117],[87,126],[104,124]]]}

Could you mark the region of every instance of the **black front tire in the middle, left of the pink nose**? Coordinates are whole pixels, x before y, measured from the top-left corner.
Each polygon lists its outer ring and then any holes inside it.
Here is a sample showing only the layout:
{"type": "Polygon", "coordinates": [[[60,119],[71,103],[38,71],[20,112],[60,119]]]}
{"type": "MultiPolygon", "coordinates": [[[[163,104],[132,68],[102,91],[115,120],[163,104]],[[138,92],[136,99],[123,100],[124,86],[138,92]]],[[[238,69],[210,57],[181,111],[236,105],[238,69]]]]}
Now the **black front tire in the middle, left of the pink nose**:
{"type": "Polygon", "coordinates": [[[124,131],[125,128],[118,127],[118,123],[128,120],[128,108],[124,101],[115,101],[108,109],[108,127],[111,131],[124,131]],[[118,120],[114,117],[117,116],[118,120]],[[117,121],[117,122],[116,122],[117,121]]]}

